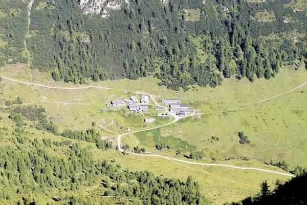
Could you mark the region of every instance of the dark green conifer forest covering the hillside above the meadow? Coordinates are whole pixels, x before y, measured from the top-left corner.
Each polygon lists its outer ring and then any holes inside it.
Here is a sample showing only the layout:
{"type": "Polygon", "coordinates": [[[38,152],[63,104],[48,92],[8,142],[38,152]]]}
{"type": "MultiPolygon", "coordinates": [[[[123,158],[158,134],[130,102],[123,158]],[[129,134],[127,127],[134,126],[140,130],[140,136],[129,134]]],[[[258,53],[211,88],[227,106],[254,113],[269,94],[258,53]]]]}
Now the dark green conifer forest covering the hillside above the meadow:
{"type": "Polygon", "coordinates": [[[26,37],[27,2],[1,2],[7,8],[0,19],[7,44],[0,47],[0,61],[26,63],[26,42],[31,68],[75,84],[154,75],[159,85],[188,90],[194,84],[221,85],[223,77],[270,79],[282,66],[298,67],[306,57],[307,16],[291,3],[123,1],[103,18],[84,14],[75,0],[39,0],[32,5],[26,37]],[[186,9],[200,11],[200,17],[186,19],[186,9]],[[274,19],[267,20],[266,12],[274,19]],[[195,38],[201,39],[200,48],[195,38]]]}

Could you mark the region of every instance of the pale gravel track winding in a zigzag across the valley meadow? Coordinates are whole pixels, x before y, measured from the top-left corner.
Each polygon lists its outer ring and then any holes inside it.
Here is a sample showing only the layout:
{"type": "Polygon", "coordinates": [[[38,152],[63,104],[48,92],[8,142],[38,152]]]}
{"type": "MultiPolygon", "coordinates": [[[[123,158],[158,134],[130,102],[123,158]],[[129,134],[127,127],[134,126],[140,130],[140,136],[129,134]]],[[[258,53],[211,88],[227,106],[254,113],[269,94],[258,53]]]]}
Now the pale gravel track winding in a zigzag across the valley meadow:
{"type": "MultiPolygon", "coordinates": [[[[51,88],[51,89],[64,89],[64,90],[78,90],[78,89],[87,89],[87,88],[96,88],[96,89],[106,89],[106,90],[120,90],[120,91],[125,91],[125,92],[131,92],[131,93],[137,93],[137,94],[146,94],[146,95],[150,95],[151,96],[151,99],[152,101],[157,105],[157,106],[161,106],[160,104],[157,103],[157,101],[155,100],[154,96],[152,94],[148,94],[148,93],[144,93],[144,92],[134,92],[134,91],[128,91],[128,90],[124,90],[124,89],[113,89],[113,88],[106,88],[106,87],[99,87],[99,86],[85,86],[85,87],[78,87],[78,88],[69,88],[69,87],[52,87],[52,86],[46,86],[46,85],[41,85],[41,84],[35,84],[35,83],[28,83],[28,82],[25,82],[25,81],[21,81],[21,80],[16,80],[16,79],[12,79],[12,78],[8,78],[8,77],[4,77],[4,76],[1,76],[2,78],[4,79],[7,79],[7,80],[11,80],[11,81],[15,81],[15,82],[18,82],[18,83],[22,83],[22,84],[27,84],[27,85],[33,85],[33,86],[40,86],[40,87],[45,87],[45,88],[51,88]]],[[[265,101],[268,101],[268,100],[271,100],[271,99],[274,99],[276,97],[280,97],[282,95],[286,95],[286,94],[289,94],[299,88],[302,88],[303,86],[305,86],[307,84],[307,81],[305,81],[303,84],[287,91],[287,92],[284,92],[284,93],[281,93],[281,94],[278,94],[278,95],[274,95],[272,97],[268,97],[268,98],[265,98],[265,99],[262,99],[262,100],[258,100],[254,103],[248,103],[248,104],[244,104],[244,105],[240,105],[240,106],[237,106],[237,107],[234,107],[234,108],[231,108],[231,109],[228,109],[228,110],[224,110],[224,111],[218,111],[218,112],[225,112],[225,111],[232,111],[232,110],[235,110],[235,109],[238,109],[238,108],[242,108],[242,107],[245,107],[245,106],[249,106],[249,105],[255,105],[255,104],[260,104],[260,103],[264,103],[265,101]]],[[[165,127],[165,126],[168,126],[168,125],[171,125],[173,124],[174,122],[177,122],[179,119],[181,118],[184,118],[184,117],[179,117],[177,116],[176,114],[173,114],[173,113],[170,113],[168,111],[168,109],[163,106],[165,108],[165,111],[167,113],[169,113],[171,116],[174,117],[174,120],[165,124],[165,125],[162,125],[162,126],[158,126],[158,127],[154,127],[154,128],[148,128],[148,129],[144,129],[144,130],[138,130],[138,131],[133,131],[133,132],[127,132],[127,133],[123,133],[123,134],[120,134],[118,135],[117,137],[117,144],[118,144],[118,147],[119,147],[119,151],[123,152],[124,150],[121,148],[121,137],[122,136],[125,136],[125,135],[128,135],[128,134],[134,134],[134,133],[138,133],[138,132],[143,132],[143,131],[149,131],[149,130],[153,130],[153,129],[158,129],[158,128],[162,128],[162,127],[165,127]]],[[[210,114],[210,113],[202,113],[202,114],[210,114]]],[[[162,156],[162,155],[155,155],[155,154],[137,154],[137,153],[133,153],[133,152],[127,152],[129,154],[132,154],[132,155],[136,155],[136,156],[142,156],[142,157],[149,157],[149,156],[152,156],[152,157],[162,157],[164,159],[168,159],[168,160],[174,160],[174,161],[179,161],[179,162],[183,162],[183,163],[189,163],[189,164],[192,164],[192,165],[201,165],[201,166],[217,166],[217,167],[228,167],[228,168],[233,168],[233,169],[241,169],[241,170],[257,170],[257,171],[261,171],[261,172],[269,172],[269,173],[274,173],[274,174],[280,174],[280,175],[284,175],[284,176],[290,176],[290,177],[294,177],[293,174],[288,174],[288,173],[282,173],[282,172],[276,172],[276,171],[271,171],[271,170],[265,170],[265,169],[259,169],[259,168],[254,168],[254,167],[236,167],[236,166],[232,166],[232,165],[224,165],[224,164],[217,164],[217,163],[200,163],[200,162],[193,162],[193,161],[187,161],[187,160],[182,160],[182,159],[176,159],[176,158],[171,158],[171,157],[167,157],[167,156],[162,156]]]]}

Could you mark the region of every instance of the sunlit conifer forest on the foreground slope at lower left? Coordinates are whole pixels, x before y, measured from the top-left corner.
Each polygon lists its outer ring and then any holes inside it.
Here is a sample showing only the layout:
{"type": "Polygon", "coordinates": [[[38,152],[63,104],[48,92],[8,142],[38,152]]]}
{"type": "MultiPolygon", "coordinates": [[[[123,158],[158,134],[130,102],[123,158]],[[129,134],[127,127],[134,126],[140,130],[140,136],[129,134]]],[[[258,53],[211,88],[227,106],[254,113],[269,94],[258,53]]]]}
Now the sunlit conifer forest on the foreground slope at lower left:
{"type": "Polygon", "coordinates": [[[12,129],[0,132],[10,142],[0,146],[0,203],[99,204],[101,196],[112,196],[140,204],[209,204],[190,176],[183,182],[122,170],[115,160],[94,162],[89,150],[70,140],[32,139],[12,129]],[[91,190],[86,197],[84,190],[91,190]]]}

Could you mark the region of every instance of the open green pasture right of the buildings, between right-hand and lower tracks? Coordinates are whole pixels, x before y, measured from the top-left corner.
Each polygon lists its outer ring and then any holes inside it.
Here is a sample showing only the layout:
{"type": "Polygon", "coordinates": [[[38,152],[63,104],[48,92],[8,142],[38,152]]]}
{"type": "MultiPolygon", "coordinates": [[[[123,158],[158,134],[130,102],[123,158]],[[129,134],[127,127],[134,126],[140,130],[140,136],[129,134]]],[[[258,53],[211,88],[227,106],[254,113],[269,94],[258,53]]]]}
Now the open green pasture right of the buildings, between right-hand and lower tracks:
{"type": "Polygon", "coordinates": [[[286,160],[292,166],[307,166],[307,87],[263,104],[235,111],[193,116],[161,128],[162,136],[175,136],[203,150],[207,157],[248,157],[270,162],[286,160]],[[240,145],[237,132],[251,140],[240,145]],[[219,137],[220,141],[211,139],[219,137]]]}

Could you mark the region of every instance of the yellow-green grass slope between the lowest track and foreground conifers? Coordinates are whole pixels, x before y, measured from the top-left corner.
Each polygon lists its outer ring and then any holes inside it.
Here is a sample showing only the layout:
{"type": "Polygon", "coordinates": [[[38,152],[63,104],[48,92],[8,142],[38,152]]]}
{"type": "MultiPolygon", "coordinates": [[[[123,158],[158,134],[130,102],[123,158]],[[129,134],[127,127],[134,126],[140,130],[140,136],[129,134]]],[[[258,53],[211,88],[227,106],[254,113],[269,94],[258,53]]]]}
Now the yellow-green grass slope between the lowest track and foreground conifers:
{"type": "MultiPolygon", "coordinates": [[[[119,156],[114,150],[107,150],[101,155],[108,156],[110,159],[116,159],[116,162],[120,163],[122,168],[130,171],[148,170],[156,175],[167,178],[176,177],[184,181],[189,175],[192,175],[194,180],[200,182],[202,193],[212,200],[212,204],[237,201],[250,194],[255,194],[259,191],[260,182],[265,179],[269,181],[271,187],[274,187],[277,178],[281,180],[288,179],[286,176],[276,176],[263,172],[245,172],[231,168],[189,165],[158,157],[139,157],[133,155],[119,156]]],[[[256,160],[247,162],[242,162],[242,160],[229,160],[226,163],[238,166],[261,167],[270,170],[276,169],[280,171],[278,168],[267,166],[256,160]]]]}

